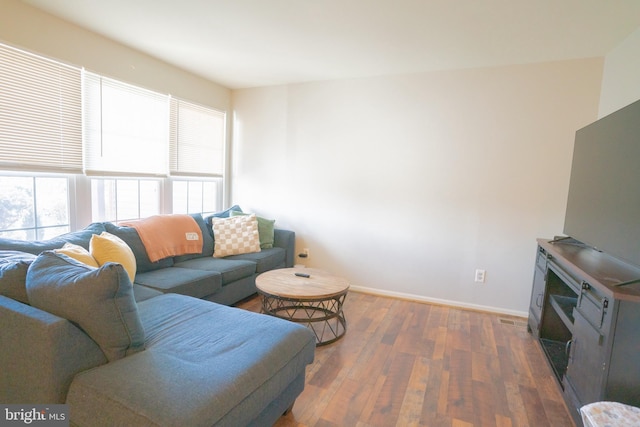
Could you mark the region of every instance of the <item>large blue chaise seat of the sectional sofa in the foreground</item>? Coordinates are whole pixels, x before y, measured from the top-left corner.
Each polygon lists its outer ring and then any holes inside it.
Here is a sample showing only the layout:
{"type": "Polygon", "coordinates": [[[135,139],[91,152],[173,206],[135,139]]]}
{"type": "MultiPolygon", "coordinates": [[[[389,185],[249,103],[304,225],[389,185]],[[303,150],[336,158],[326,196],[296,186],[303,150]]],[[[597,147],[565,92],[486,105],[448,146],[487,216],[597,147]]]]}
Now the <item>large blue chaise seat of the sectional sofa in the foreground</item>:
{"type": "Polygon", "coordinates": [[[304,326],[163,295],[140,303],[144,352],[76,376],[77,425],[251,425],[313,361],[304,326]]]}

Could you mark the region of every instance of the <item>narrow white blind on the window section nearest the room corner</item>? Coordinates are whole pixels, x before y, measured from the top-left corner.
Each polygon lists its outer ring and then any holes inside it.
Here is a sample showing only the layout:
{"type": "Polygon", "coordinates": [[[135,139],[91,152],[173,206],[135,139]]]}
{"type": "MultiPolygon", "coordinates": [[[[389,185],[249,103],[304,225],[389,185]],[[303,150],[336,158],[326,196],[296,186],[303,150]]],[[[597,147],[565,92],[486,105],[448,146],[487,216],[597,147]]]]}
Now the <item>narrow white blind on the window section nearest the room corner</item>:
{"type": "Polygon", "coordinates": [[[225,113],[171,99],[170,174],[221,177],[225,113]]]}

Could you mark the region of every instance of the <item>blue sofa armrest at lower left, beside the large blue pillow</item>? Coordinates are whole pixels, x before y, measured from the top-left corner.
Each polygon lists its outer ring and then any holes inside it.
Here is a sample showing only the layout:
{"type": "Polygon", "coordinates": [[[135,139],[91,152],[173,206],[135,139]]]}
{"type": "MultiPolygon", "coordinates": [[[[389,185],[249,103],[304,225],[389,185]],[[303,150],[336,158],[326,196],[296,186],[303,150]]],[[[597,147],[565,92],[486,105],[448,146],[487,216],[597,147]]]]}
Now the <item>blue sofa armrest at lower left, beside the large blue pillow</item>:
{"type": "Polygon", "coordinates": [[[80,328],[0,296],[0,402],[64,403],[78,372],[107,362],[80,328]]]}

